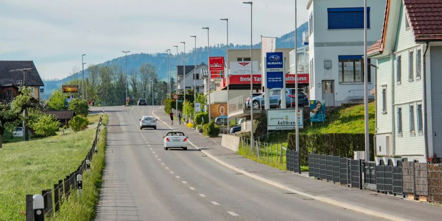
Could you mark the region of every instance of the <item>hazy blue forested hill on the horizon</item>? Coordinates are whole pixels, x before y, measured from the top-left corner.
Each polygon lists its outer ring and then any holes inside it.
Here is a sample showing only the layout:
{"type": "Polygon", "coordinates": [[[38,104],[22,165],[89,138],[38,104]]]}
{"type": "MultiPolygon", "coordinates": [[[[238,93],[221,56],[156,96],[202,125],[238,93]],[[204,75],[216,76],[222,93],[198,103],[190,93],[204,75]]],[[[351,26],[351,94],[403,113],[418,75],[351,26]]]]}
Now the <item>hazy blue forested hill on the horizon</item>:
{"type": "MultiPolygon", "coordinates": [[[[308,30],[307,23],[302,24],[298,29],[298,46],[301,46],[302,42],[302,33],[303,31],[308,30]]],[[[294,48],[294,31],[284,34],[278,38],[276,38],[276,48],[294,48]]],[[[234,45],[230,43],[229,49],[248,49],[249,45],[234,45]]],[[[261,48],[260,43],[253,45],[254,49],[261,48]]],[[[174,48],[171,48],[172,53],[175,54],[174,48]]],[[[210,55],[211,56],[224,56],[225,55],[225,44],[218,44],[210,46],[210,55]]],[[[181,54],[183,56],[183,54],[181,54]]],[[[193,64],[193,52],[190,51],[189,53],[185,54],[185,60],[187,61],[187,64],[193,64]]],[[[170,57],[171,63],[171,72],[175,71],[175,65],[176,65],[176,57],[171,56],[170,57]]],[[[182,60],[182,58],[181,58],[182,60]]],[[[104,63],[101,63],[99,65],[103,66],[110,66],[116,64],[117,66],[123,66],[125,65],[125,56],[117,57],[112,60],[108,60],[104,63]]],[[[197,48],[196,49],[196,63],[205,62],[207,63],[207,47],[204,48],[197,48]]],[[[157,68],[157,74],[158,77],[162,80],[167,79],[167,53],[155,53],[155,54],[131,54],[127,55],[127,68],[128,71],[131,69],[138,70],[142,63],[151,63],[157,68]]],[[[84,74],[87,77],[87,69],[85,70],[84,74]]],[[[51,94],[54,89],[61,88],[61,85],[64,82],[70,81],[71,78],[67,77],[61,80],[43,80],[45,83],[45,91],[46,94],[51,94]]]]}

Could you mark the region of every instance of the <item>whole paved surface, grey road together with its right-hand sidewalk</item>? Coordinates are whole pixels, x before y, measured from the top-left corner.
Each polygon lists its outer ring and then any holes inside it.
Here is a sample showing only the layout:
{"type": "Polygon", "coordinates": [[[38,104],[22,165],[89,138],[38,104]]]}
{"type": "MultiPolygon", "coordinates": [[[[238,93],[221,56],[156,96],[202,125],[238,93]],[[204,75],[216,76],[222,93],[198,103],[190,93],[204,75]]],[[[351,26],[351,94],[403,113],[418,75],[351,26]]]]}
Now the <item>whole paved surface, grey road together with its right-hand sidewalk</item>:
{"type": "Polygon", "coordinates": [[[105,111],[109,115],[106,168],[96,220],[432,220],[442,216],[440,206],[258,164],[222,147],[220,138],[205,138],[176,121],[166,125],[170,118],[161,107],[106,107],[105,111]],[[138,118],[152,112],[159,118],[157,130],[139,130],[138,118]],[[188,151],[163,149],[162,137],[172,129],[189,136],[188,151]]]}

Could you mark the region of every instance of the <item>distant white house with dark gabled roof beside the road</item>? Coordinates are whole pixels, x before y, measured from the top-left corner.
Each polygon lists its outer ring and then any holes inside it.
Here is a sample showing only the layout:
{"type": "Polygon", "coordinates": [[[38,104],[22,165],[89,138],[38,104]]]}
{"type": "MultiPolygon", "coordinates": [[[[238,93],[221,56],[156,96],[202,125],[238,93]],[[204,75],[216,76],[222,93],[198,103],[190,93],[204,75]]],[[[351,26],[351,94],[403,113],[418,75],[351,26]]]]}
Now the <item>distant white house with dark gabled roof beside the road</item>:
{"type": "Polygon", "coordinates": [[[194,65],[178,65],[177,73],[178,73],[178,90],[183,91],[184,85],[186,85],[186,89],[193,89],[193,85],[196,85],[196,91],[199,91],[201,85],[204,84],[203,77],[200,75],[202,69],[207,69],[208,66],[204,62],[197,64],[196,68],[194,65]],[[184,77],[184,73],[186,73],[186,77],[184,77]],[[193,82],[195,79],[195,82],[193,82]]]}

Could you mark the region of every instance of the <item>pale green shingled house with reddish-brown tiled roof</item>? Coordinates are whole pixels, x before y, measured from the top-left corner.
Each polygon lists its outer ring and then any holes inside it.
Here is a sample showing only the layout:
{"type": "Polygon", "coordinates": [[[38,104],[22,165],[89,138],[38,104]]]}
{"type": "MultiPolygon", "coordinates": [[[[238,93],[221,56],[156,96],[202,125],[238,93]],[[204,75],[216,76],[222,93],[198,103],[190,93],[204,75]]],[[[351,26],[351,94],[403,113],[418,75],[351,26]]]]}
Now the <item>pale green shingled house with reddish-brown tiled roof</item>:
{"type": "Polygon", "coordinates": [[[442,3],[387,0],[375,75],[377,155],[442,156],[442,3]]]}

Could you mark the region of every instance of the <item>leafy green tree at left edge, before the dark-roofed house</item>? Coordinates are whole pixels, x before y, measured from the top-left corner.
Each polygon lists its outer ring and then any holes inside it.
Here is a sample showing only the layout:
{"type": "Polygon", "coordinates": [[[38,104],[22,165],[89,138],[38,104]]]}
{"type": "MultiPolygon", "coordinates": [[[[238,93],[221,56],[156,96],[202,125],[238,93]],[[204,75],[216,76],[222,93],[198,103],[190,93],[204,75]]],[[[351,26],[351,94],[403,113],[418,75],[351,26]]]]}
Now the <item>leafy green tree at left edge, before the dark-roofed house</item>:
{"type": "Polygon", "coordinates": [[[11,104],[0,103],[0,148],[7,125],[22,119],[25,109],[41,107],[40,102],[32,97],[32,88],[20,87],[19,92],[20,95],[15,97],[11,104]]]}

